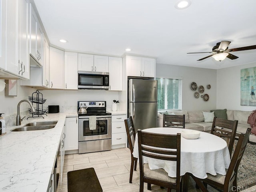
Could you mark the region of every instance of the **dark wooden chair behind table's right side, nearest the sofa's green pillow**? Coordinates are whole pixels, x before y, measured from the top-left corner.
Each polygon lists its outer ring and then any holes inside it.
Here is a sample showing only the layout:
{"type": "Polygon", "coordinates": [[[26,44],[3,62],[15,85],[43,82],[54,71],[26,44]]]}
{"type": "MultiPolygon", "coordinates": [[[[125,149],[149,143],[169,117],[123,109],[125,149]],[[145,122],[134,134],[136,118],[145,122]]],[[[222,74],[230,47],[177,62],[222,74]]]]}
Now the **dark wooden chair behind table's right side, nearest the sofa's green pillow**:
{"type": "Polygon", "coordinates": [[[237,129],[238,120],[226,120],[222,118],[214,117],[212,122],[212,130],[211,134],[224,137],[228,143],[228,150],[231,158],[234,141],[236,137],[236,129],[237,129]]]}

